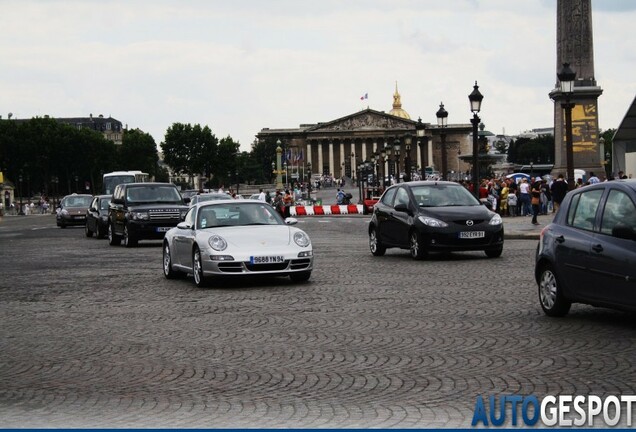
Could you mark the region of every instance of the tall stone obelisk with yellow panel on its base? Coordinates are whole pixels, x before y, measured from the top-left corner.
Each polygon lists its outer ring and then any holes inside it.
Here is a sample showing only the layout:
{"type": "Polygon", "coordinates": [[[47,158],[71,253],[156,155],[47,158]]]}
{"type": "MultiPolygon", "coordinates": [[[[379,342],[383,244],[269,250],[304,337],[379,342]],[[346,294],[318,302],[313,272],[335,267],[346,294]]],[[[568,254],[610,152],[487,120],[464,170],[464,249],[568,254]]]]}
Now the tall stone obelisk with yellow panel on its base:
{"type": "MultiPolygon", "coordinates": [[[[594,172],[605,177],[602,160],[604,149],[599,144],[598,97],[603,90],[594,77],[594,44],[592,40],[591,0],[557,0],[557,65],[569,63],[576,72],[574,94],[569,98],[572,109],[572,143],[574,169],[583,169],[589,178],[594,172]]],[[[556,76],[556,74],[555,74],[556,76]]],[[[552,174],[566,175],[566,125],[561,103],[565,101],[557,82],[550,92],[554,100],[554,168],[552,174]]]]}

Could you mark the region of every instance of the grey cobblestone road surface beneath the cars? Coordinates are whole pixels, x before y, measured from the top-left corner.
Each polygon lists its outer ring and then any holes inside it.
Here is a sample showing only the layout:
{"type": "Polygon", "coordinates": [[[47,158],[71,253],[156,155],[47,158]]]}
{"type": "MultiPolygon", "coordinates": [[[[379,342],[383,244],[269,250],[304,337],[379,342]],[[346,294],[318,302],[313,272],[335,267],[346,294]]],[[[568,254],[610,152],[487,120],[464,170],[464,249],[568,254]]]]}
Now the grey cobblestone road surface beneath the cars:
{"type": "Polygon", "coordinates": [[[373,257],[363,217],[306,218],[310,282],[197,289],[136,249],[0,222],[2,427],[465,427],[477,395],[636,392],[634,316],[543,315],[536,241],[373,257]]]}

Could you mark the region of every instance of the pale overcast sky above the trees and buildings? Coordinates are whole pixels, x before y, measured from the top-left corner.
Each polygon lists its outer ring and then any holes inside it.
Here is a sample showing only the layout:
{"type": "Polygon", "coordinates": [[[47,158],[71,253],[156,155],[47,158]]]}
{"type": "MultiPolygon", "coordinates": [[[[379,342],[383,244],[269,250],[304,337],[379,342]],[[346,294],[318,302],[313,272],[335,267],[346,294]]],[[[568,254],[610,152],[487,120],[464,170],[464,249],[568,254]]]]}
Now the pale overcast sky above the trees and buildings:
{"type": "MultiPolygon", "coordinates": [[[[602,130],[636,94],[636,1],[593,0],[602,130]]],[[[367,106],[486,129],[553,126],[556,0],[0,0],[0,115],[112,116],[157,144],[174,122],[249,150],[262,128],[367,106]],[[360,97],[368,94],[368,99],[360,97]]]]}

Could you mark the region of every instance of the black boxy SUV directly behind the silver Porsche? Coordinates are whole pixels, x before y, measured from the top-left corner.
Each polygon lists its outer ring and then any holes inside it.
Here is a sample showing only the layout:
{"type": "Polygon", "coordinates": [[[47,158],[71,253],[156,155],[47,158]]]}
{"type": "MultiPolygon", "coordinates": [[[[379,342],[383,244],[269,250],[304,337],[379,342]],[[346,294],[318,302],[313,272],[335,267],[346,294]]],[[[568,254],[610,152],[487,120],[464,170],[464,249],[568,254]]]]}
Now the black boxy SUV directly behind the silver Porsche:
{"type": "Polygon", "coordinates": [[[172,183],[125,183],[115,187],[108,208],[108,243],[134,247],[139,240],[161,240],[188,211],[172,183]]]}

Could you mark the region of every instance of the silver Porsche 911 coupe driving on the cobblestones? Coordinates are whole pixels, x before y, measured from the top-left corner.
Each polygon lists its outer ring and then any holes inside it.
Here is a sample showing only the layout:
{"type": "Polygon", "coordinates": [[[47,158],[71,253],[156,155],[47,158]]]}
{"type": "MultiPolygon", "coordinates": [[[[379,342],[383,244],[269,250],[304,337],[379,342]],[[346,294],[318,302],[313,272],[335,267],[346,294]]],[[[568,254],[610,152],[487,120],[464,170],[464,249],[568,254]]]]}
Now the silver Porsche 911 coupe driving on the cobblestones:
{"type": "Polygon", "coordinates": [[[194,205],[163,241],[163,274],[194,275],[197,286],[214,277],[272,275],[309,280],[309,236],[269,204],[256,200],[206,201],[194,205]]]}

